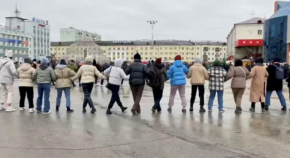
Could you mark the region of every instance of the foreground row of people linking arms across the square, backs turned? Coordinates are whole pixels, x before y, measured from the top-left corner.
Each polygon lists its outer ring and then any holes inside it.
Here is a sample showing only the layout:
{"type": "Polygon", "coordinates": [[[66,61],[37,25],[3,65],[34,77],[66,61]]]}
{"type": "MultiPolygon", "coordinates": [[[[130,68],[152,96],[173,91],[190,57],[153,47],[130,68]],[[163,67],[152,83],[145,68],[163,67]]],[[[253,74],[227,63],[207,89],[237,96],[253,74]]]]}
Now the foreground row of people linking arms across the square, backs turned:
{"type": "Polygon", "coordinates": [[[67,112],[73,112],[70,104],[70,89],[76,86],[75,80],[79,80],[79,86],[82,87],[84,93],[82,112],[86,112],[86,105],[89,104],[90,113],[95,113],[96,109],[90,95],[94,84],[97,83],[97,78],[101,79],[101,86],[104,80],[108,80],[106,88],[112,91],[106,114],[112,114],[110,109],[115,102],[117,102],[122,112],[127,109],[127,107],[123,106],[118,94],[124,80],[129,80],[132,91],[134,104],[131,112],[133,114],[141,112],[139,102],[142,98],[145,84],[152,87],[154,98],[152,112],[160,112],[162,110],[160,100],[163,95],[164,82],[167,80],[170,80],[171,85],[167,111],[172,111],[176,92],[179,91],[182,112],[186,112],[186,78],[190,79],[191,83],[190,111],[193,111],[197,90],[200,97],[199,112],[206,111],[204,109],[204,84],[205,80],[209,80],[208,111],[213,111],[213,100],[217,94],[218,111],[224,112],[224,82],[231,78],[231,89],[236,104],[235,113],[238,114],[242,111],[242,95],[246,89],[246,80],[249,78],[252,78],[249,99],[251,107],[249,111],[255,111],[256,102],[261,102],[262,111],[268,110],[273,91],[278,94],[282,105],[281,110],[287,110],[287,104],[282,93],[282,80],[287,78],[288,87],[290,86],[290,70],[287,63],[280,64],[280,58],[274,58],[273,62],[267,67],[263,64],[263,58],[257,58],[252,67],[249,67],[249,64],[244,67],[240,59],[235,59],[234,65],[232,63],[229,65],[222,64],[219,60],[215,60],[210,67],[207,67],[198,57],[194,59],[193,63],[183,63],[180,55],[175,56],[175,61],[172,64],[162,63],[161,58],[142,63],[141,56],[136,53],[134,62],[131,64],[124,62],[122,59],[116,59],[114,63],[104,63],[103,65],[97,63],[91,57],[86,57],[84,61],[80,62],[70,60],[68,63],[64,59],[57,63],[56,60],[49,62],[45,57],[38,62],[36,60],[31,61],[30,58],[24,58],[24,63],[18,65],[12,61],[12,50],[6,51],[5,56],[5,58],[0,59],[0,82],[2,84],[0,110],[6,110],[7,112],[15,111],[11,107],[14,77],[20,78],[20,111],[26,110],[24,102],[27,95],[30,113],[35,111],[42,111],[43,114],[51,113],[49,101],[51,85],[55,85],[55,89],[57,89],[55,110],[59,111],[61,95],[62,91],[64,91],[67,112]],[[33,103],[34,83],[37,83],[38,91],[36,110],[33,103]],[[43,97],[44,108],[42,108],[43,97]],[[7,106],[4,105],[5,103],[7,106]]]}

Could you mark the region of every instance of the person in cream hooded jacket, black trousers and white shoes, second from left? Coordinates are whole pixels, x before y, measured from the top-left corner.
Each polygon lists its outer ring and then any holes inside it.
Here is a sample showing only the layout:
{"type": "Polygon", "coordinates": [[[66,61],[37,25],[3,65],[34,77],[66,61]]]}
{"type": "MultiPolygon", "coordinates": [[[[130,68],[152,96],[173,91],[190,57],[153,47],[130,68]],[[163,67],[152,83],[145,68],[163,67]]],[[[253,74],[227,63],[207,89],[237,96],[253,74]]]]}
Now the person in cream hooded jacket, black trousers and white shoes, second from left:
{"type": "Polygon", "coordinates": [[[25,97],[27,94],[29,112],[35,112],[33,105],[33,81],[32,74],[35,72],[35,69],[31,66],[31,59],[24,58],[24,63],[15,71],[14,76],[20,78],[19,80],[19,94],[20,101],[19,107],[20,111],[26,110],[24,106],[25,97]]]}

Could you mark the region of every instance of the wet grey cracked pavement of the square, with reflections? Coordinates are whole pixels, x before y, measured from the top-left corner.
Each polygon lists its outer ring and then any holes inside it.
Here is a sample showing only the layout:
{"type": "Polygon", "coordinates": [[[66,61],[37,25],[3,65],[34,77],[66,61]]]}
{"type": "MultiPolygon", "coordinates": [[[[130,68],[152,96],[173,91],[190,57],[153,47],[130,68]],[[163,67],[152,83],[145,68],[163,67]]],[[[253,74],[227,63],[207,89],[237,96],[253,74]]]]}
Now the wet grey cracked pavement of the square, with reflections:
{"type": "MultiPolygon", "coordinates": [[[[66,113],[64,94],[60,111],[55,112],[57,94],[52,87],[52,113],[43,115],[19,111],[18,81],[15,81],[12,107],[17,111],[0,111],[0,157],[289,157],[289,109],[280,110],[281,104],[274,92],[269,111],[262,112],[257,103],[256,111],[250,112],[250,82],[247,81],[242,98],[242,114],[238,115],[234,113],[230,81],[224,86],[224,113],[218,113],[217,98],[213,112],[207,111],[208,82],[205,84],[206,112],[199,113],[198,94],[194,111],[189,112],[191,85],[188,81],[187,113],[181,112],[178,93],[172,112],[168,113],[170,83],[166,82],[162,112],[151,112],[153,94],[150,87],[145,87],[141,113],[132,115],[133,96],[125,81],[119,91],[123,105],[128,106],[124,113],[115,103],[113,114],[105,115],[111,92],[99,86],[92,91],[95,114],[89,113],[88,106],[87,113],[81,112],[84,95],[80,87],[71,89],[75,112],[66,113]]],[[[36,87],[34,93],[36,106],[36,87]]],[[[289,104],[286,83],[283,94],[289,104]]],[[[27,100],[26,103],[28,108],[27,100]]]]}

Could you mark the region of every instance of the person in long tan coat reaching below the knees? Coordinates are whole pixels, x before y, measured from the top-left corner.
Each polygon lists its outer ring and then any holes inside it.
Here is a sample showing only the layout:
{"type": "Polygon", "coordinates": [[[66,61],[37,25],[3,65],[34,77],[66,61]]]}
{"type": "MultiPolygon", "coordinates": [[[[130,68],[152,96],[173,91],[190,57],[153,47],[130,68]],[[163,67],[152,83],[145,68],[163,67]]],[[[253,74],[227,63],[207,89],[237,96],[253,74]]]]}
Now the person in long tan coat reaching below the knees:
{"type": "Polygon", "coordinates": [[[255,111],[255,103],[261,102],[262,111],[265,111],[265,78],[269,76],[263,65],[263,58],[258,58],[255,66],[251,69],[252,83],[250,91],[250,111],[255,111]]]}

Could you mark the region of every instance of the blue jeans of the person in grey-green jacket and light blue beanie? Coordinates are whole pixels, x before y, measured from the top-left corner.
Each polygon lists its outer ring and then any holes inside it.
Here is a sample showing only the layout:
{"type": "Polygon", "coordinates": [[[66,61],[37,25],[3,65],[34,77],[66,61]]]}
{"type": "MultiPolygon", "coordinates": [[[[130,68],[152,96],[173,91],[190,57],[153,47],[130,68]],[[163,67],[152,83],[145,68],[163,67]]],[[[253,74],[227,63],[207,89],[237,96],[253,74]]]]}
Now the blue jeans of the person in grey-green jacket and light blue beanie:
{"type": "Polygon", "coordinates": [[[42,97],[44,92],[44,109],[43,112],[47,113],[50,109],[50,103],[49,103],[49,93],[50,93],[50,83],[42,83],[37,85],[37,91],[38,91],[38,98],[36,101],[36,110],[41,110],[42,105],[42,97]]]}

